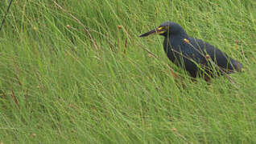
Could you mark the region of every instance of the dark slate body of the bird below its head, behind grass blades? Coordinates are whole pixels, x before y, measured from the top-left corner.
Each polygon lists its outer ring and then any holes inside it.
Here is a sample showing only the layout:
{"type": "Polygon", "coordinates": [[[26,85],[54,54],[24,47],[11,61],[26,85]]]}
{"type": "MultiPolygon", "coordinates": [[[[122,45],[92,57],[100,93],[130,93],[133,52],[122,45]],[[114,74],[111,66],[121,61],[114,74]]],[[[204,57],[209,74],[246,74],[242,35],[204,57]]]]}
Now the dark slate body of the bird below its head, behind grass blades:
{"type": "Polygon", "coordinates": [[[213,72],[213,66],[225,73],[242,69],[240,62],[229,58],[221,50],[200,39],[175,37],[169,39],[169,44],[167,40],[164,40],[163,45],[168,58],[172,62],[182,64],[193,77],[196,77],[198,66],[206,68],[209,73],[213,72]]]}

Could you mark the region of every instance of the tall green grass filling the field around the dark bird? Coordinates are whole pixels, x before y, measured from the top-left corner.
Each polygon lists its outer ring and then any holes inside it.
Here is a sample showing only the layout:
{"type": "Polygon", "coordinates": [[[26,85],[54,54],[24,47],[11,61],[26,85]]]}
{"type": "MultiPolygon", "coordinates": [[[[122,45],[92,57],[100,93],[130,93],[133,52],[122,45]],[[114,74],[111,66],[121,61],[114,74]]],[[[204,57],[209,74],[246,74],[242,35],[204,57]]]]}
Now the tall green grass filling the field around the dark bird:
{"type": "Polygon", "coordinates": [[[256,142],[256,1],[57,3],[14,0],[0,32],[1,142],[256,142]],[[242,62],[237,84],[192,82],[138,38],[166,21],[242,62]]]}

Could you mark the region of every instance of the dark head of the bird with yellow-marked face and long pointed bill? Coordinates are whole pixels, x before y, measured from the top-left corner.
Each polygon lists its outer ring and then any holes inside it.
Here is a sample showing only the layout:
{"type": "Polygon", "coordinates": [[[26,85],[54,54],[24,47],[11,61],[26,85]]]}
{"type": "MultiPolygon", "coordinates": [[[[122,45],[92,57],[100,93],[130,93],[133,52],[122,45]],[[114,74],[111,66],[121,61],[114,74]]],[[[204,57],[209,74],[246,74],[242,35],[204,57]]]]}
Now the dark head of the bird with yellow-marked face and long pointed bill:
{"type": "Polygon", "coordinates": [[[167,37],[175,34],[186,34],[186,32],[179,24],[175,22],[164,22],[159,27],[142,34],[139,37],[147,37],[150,34],[159,34],[167,37]]]}

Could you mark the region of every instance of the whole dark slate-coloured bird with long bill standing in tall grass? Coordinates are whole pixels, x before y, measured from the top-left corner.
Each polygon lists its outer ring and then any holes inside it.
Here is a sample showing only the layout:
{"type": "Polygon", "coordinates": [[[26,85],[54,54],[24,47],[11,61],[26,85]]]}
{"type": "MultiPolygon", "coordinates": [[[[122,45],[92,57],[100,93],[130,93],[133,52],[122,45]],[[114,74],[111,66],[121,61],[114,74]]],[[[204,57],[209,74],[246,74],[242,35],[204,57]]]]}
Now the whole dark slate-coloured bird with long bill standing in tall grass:
{"type": "Polygon", "coordinates": [[[192,78],[200,76],[209,82],[210,78],[242,70],[240,62],[229,58],[227,54],[207,42],[189,37],[175,22],[164,22],[139,37],[150,34],[164,36],[163,49],[167,57],[177,66],[184,67],[192,78]]]}

